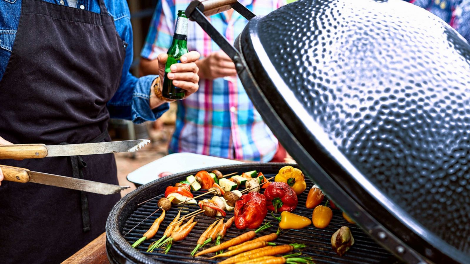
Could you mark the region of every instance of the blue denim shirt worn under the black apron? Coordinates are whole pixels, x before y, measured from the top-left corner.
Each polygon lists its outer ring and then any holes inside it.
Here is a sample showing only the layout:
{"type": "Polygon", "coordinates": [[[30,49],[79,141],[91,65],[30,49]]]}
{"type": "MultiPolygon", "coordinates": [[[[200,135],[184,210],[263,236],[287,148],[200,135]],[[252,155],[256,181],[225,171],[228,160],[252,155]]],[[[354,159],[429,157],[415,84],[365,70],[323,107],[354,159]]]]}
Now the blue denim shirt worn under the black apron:
{"type": "MultiPolygon", "coordinates": [[[[58,5],[68,5],[67,0],[44,1],[58,5]]],[[[126,47],[124,67],[118,91],[107,104],[110,116],[112,118],[132,120],[134,123],[153,121],[168,109],[168,104],[165,103],[157,109],[150,109],[150,86],[157,76],[149,75],[136,78],[129,72],[133,60],[133,36],[127,2],[125,0],[105,0],[104,2],[109,15],[114,18],[119,36],[129,44],[126,47]]],[[[78,0],[77,7],[100,13],[98,0],[78,0]]],[[[7,68],[13,43],[15,42],[20,13],[21,0],[0,0],[0,80],[7,68]]],[[[80,47],[77,44],[77,47],[69,48],[80,47]]]]}

